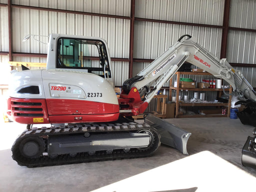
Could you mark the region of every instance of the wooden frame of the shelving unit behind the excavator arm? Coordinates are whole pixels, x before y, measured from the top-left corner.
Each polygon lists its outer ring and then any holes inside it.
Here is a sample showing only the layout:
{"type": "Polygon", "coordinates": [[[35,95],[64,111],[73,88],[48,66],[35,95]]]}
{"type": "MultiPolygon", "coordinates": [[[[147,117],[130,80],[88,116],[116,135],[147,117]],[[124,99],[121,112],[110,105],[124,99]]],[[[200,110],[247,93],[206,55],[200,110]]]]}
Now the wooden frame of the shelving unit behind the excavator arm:
{"type": "MultiPolygon", "coordinates": [[[[169,100],[171,100],[171,90],[176,90],[176,107],[175,107],[175,117],[176,118],[181,118],[181,117],[223,117],[223,116],[229,116],[230,115],[230,107],[231,107],[231,96],[229,96],[228,100],[228,108],[227,108],[227,114],[222,115],[222,114],[206,114],[206,115],[201,115],[201,114],[196,114],[196,115],[181,115],[178,114],[178,110],[181,106],[226,106],[227,103],[196,103],[196,102],[179,102],[178,100],[178,95],[179,95],[179,90],[180,89],[186,89],[190,91],[218,91],[218,96],[220,97],[222,94],[223,89],[222,88],[181,88],[179,87],[179,77],[181,74],[191,74],[191,75],[212,75],[208,72],[182,72],[182,71],[177,71],[175,72],[175,75],[177,75],[177,87],[170,86],[169,87],[169,100]]],[[[170,85],[172,85],[172,78],[170,79],[170,85]]],[[[232,87],[230,88],[225,88],[225,91],[229,91],[231,93],[232,87]]]]}

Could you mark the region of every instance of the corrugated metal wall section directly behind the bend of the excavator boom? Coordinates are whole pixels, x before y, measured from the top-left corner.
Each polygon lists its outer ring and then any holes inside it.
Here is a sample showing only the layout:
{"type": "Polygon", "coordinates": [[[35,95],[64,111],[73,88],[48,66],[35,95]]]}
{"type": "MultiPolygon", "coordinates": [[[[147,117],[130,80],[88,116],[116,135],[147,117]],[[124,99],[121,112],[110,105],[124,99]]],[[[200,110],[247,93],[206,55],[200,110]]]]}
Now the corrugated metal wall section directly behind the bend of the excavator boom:
{"type": "Polygon", "coordinates": [[[134,57],[155,59],[183,34],[195,36],[199,44],[217,57],[220,56],[222,35],[220,28],[136,21],[134,57]]]}

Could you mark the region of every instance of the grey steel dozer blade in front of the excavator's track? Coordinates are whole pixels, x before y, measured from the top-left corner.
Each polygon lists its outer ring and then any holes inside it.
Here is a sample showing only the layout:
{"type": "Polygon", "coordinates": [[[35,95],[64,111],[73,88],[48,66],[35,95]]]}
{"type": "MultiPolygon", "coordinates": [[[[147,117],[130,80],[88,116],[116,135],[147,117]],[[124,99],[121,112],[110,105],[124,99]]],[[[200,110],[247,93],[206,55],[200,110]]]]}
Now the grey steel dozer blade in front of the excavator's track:
{"type": "Polygon", "coordinates": [[[144,122],[157,129],[157,132],[160,134],[161,143],[174,147],[183,154],[188,154],[186,143],[191,135],[190,132],[153,116],[152,114],[145,115],[144,122]]]}

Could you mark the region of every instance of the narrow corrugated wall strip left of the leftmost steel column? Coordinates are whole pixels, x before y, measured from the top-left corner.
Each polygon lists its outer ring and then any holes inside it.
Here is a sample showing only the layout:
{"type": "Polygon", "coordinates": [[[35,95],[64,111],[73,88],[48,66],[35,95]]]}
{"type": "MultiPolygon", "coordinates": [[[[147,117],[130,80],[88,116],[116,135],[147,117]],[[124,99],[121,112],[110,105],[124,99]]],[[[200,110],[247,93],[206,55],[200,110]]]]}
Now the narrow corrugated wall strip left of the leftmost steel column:
{"type": "Polygon", "coordinates": [[[8,8],[0,6],[0,51],[9,51],[8,8]]]}

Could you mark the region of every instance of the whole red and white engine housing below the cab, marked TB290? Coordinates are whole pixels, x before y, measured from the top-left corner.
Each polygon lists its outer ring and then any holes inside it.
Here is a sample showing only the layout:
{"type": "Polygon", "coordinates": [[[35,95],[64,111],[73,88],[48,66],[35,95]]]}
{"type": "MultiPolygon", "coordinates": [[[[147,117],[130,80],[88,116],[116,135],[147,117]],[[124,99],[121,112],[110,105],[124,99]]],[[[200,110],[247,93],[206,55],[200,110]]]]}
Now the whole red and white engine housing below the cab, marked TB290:
{"type": "Polygon", "coordinates": [[[20,123],[114,121],[119,104],[104,78],[87,72],[25,70],[13,72],[8,114],[20,123]],[[29,79],[29,80],[28,80],[29,79]]]}

